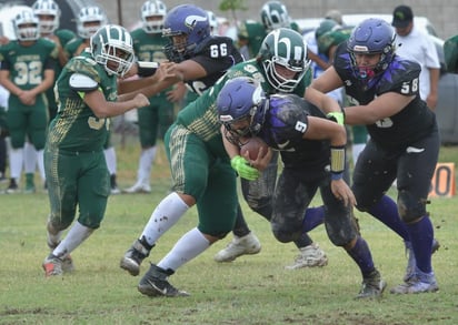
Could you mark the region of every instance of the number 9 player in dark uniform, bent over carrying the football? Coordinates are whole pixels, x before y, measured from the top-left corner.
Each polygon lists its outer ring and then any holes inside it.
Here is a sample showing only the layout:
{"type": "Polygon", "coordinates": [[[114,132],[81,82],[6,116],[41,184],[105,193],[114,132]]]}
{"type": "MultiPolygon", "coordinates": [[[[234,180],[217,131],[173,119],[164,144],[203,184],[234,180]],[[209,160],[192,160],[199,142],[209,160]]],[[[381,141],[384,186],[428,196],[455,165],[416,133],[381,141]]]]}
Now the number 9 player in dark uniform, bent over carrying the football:
{"type": "MultiPolygon", "coordinates": [[[[228,81],[218,94],[217,108],[229,158],[240,156],[239,143],[250,136],[261,138],[280,152],[283,170],[270,220],[276,238],[288,243],[301,235],[303,214],[319,189],[330,241],[344,247],[361,271],[362,287],[357,297],[379,297],[386,283],[374,265],[368,244],[358,234],[351,214],[355,195],[342,179],[345,126],[296,94],[267,97],[249,78],[228,81]]],[[[250,160],[250,164],[258,167],[257,160],[250,160]]]]}

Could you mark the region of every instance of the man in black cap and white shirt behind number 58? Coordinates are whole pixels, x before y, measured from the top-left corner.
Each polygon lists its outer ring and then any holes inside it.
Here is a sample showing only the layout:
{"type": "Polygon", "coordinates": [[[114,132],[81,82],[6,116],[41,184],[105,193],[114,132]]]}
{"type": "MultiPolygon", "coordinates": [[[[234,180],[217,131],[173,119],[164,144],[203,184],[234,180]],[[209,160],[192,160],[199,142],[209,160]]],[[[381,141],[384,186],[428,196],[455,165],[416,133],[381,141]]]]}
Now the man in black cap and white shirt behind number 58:
{"type": "Polygon", "coordinates": [[[432,40],[415,27],[414,12],[408,6],[398,6],[392,12],[392,27],[397,33],[396,53],[421,67],[420,97],[431,110],[436,109],[440,62],[432,40]]]}

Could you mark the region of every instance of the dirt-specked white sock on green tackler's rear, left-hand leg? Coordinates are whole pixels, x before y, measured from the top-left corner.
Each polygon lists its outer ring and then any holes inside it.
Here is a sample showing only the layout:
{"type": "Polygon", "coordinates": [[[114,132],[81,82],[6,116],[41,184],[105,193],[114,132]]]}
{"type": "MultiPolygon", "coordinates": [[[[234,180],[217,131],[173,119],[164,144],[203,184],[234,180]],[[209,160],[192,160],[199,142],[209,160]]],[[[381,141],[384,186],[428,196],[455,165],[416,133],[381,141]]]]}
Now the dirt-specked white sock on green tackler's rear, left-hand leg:
{"type": "Polygon", "coordinates": [[[170,193],[156,206],[141,237],[145,236],[151,246],[162,236],[180,217],[188,211],[189,206],[176,193],[170,193]]]}

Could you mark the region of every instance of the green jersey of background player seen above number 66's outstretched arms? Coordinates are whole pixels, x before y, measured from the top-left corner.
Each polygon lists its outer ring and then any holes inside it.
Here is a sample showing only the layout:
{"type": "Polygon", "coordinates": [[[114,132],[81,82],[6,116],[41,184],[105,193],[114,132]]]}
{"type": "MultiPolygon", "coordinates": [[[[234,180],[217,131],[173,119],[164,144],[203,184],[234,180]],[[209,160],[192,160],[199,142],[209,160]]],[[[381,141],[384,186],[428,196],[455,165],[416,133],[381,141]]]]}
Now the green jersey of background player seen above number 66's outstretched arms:
{"type": "MultiPolygon", "coordinates": [[[[168,39],[161,33],[147,33],[142,28],[138,28],[130,33],[133,39],[133,51],[139,61],[158,62],[167,61],[163,52],[163,47],[168,43],[168,39]]],[[[167,98],[167,89],[152,98],[167,98]]]]}

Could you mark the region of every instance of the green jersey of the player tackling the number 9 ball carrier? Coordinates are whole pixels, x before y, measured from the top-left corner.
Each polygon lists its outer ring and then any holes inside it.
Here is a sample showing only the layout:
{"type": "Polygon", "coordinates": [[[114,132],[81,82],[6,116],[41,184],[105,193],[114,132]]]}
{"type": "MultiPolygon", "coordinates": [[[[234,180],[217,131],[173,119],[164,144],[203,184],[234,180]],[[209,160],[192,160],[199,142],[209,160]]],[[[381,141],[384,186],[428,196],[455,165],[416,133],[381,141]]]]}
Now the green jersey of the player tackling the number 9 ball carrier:
{"type": "MultiPolygon", "coordinates": [[[[183,125],[193,134],[202,139],[209,145],[210,151],[218,156],[227,156],[222,145],[220,133],[221,124],[218,119],[217,98],[222,87],[228,80],[237,77],[249,77],[260,82],[266,93],[275,93],[276,90],[267,81],[263,69],[256,59],[238,63],[221,77],[213,87],[202,93],[195,102],[187,105],[178,113],[177,124],[183,125]]],[[[298,84],[295,92],[303,97],[306,87],[311,82],[311,72],[298,84]]]]}

